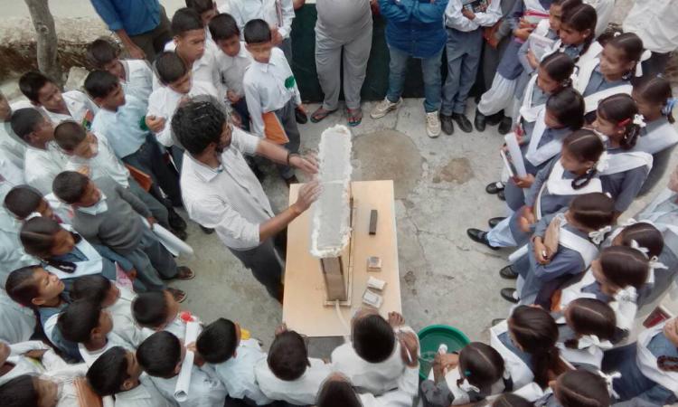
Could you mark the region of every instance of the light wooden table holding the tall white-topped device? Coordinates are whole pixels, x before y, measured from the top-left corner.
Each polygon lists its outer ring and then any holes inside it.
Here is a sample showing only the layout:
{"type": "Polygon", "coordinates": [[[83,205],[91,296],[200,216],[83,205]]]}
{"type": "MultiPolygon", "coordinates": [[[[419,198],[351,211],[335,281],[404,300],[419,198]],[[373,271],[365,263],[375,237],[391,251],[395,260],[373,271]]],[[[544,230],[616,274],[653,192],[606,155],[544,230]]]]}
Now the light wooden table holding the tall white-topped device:
{"type": "MultiPolygon", "coordinates": [[[[297,201],[301,185],[291,185],[289,203],[297,201]]],[[[352,183],[353,191],[353,300],[351,307],[341,307],[346,324],[356,308],[363,304],[367,279],[374,276],[386,281],[381,293],[383,316],[390,311],[401,312],[400,272],[398,266],[398,236],[393,200],[393,181],[360,181],[352,183]],[[377,233],[369,234],[370,212],[379,212],[377,233]],[[381,271],[367,271],[367,258],[379,256],[381,271]]],[[[306,336],[350,335],[334,307],[326,307],[325,282],[320,260],[311,256],[310,235],[313,207],[287,227],[287,265],[285,268],[285,298],[283,322],[306,336]]]]}

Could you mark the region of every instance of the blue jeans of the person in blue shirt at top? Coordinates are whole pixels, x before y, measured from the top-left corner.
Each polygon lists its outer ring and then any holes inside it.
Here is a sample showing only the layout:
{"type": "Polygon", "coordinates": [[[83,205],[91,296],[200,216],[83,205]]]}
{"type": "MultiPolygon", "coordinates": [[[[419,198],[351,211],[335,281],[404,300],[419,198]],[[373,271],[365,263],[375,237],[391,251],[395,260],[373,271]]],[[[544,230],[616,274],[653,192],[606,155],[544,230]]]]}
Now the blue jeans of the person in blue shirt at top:
{"type": "MultiPolygon", "coordinates": [[[[391,102],[400,100],[405,83],[407,63],[410,53],[389,46],[391,62],[389,62],[389,90],[386,98],[391,102]]],[[[440,90],[442,85],[440,64],[443,50],[430,58],[421,58],[421,71],[424,74],[424,109],[427,113],[440,109],[440,90]]]]}

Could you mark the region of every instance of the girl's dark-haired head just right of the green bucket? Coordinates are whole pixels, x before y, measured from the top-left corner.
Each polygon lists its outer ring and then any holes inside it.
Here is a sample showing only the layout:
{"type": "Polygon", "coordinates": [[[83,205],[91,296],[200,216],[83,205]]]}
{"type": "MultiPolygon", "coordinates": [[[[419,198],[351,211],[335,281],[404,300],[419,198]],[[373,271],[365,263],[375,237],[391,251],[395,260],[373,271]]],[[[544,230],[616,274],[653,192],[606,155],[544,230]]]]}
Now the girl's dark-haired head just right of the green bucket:
{"type": "Polygon", "coordinates": [[[459,383],[465,379],[479,389],[489,389],[504,374],[504,359],[494,347],[471,342],[459,352],[459,383]]]}

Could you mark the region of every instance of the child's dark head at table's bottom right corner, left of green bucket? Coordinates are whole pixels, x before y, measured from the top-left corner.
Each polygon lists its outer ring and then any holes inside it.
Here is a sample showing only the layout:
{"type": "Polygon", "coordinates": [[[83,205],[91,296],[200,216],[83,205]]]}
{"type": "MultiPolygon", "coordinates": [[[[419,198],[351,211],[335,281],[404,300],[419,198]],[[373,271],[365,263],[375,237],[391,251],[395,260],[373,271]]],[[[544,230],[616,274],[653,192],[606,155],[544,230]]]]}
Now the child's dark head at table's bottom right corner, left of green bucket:
{"type": "Polygon", "coordinates": [[[355,353],[367,362],[378,364],[388,359],[396,348],[391,324],[374,308],[359,308],[353,316],[351,336],[355,353]]]}

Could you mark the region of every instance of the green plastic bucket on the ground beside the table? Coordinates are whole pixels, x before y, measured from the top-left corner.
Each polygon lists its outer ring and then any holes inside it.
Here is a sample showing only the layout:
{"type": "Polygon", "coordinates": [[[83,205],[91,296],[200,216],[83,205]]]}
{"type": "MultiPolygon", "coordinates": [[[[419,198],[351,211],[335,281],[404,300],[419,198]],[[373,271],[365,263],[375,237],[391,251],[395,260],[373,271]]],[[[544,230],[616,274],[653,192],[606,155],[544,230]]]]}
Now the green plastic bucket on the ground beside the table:
{"type": "Polygon", "coordinates": [[[431,325],[419,331],[419,377],[428,379],[433,359],[440,344],[447,345],[447,353],[457,352],[471,343],[463,332],[448,325],[431,325]]]}

